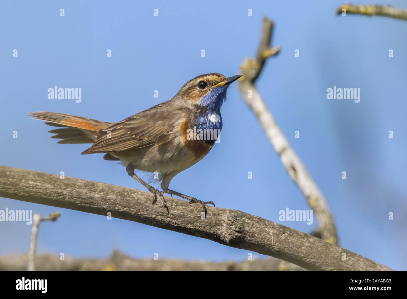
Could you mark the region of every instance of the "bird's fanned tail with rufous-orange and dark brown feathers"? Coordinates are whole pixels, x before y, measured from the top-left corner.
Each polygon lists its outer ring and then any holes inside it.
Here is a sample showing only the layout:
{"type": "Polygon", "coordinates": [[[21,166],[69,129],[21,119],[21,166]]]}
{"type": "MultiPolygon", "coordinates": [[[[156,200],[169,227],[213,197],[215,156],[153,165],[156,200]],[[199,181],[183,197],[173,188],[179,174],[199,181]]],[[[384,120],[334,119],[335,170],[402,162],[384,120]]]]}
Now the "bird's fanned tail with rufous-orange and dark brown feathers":
{"type": "Polygon", "coordinates": [[[62,144],[93,143],[98,130],[113,124],[81,116],[46,111],[28,113],[28,116],[37,120],[44,120],[45,124],[49,126],[61,127],[48,132],[55,133],[56,135],[51,136],[51,138],[61,139],[58,143],[62,144]]]}

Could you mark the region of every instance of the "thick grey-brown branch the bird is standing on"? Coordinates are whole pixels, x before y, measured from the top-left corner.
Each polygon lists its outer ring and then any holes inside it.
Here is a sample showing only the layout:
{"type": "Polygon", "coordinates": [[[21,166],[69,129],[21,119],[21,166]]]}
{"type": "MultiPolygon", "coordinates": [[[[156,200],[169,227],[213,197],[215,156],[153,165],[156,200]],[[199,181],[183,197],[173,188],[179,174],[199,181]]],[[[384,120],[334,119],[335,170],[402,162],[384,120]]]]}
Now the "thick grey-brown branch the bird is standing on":
{"type": "Polygon", "coordinates": [[[208,215],[202,219],[200,207],[166,197],[167,215],[160,202],[151,204],[151,193],[105,183],[0,166],[0,197],[105,216],[111,213],[112,217],[270,255],[309,270],[391,270],[309,234],[241,211],[208,207],[208,215]]]}

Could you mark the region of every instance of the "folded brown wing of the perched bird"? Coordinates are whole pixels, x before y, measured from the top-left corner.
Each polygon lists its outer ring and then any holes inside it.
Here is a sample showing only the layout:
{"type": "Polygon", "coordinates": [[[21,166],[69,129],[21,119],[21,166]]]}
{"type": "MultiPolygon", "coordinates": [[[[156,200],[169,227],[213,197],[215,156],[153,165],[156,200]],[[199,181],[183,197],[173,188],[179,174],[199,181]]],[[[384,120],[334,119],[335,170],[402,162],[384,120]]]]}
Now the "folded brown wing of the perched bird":
{"type": "Polygon", "coordinates": [[[174,124],[181,115],[182,109],[171,107],[168,102],[161,103],[99,130],[95,143],[82,154],[111,153],[141,148],[154,144],[160,136],[164,135],[160,138],[161,142],[166,139],[165,134],[173,131],[174,124]]]}

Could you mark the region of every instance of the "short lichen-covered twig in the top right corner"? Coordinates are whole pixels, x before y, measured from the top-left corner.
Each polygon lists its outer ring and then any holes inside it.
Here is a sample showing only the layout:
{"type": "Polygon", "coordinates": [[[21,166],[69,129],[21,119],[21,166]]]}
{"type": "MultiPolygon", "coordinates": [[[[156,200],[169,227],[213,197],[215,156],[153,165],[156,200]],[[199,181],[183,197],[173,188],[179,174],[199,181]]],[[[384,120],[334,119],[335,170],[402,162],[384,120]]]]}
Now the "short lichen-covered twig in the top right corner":
{"type": "Polygon", "coordinates": [[[346,13],[353,13],[358,15],[381,15],[383,17],[392,17],[407,21],[407,9],[400,9],[388,5],[360,5],[360,4],[344,4],[336,11],[340,15],[343,10],[346,13]]]}

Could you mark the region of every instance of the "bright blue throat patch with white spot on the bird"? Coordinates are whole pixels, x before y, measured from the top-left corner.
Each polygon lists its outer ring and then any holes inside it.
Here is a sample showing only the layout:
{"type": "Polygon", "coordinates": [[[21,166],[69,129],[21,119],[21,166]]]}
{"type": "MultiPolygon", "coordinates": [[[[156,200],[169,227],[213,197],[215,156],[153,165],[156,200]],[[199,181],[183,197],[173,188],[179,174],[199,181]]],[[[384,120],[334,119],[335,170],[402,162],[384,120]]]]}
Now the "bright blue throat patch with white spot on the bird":
{"type": "Polygon", "coordinates": [[[197,129],[222,129],[221,107],[226,100],[227,88],[214,87],[209,94],[199,99],[198,104],[206,108],[206,112],[198,118],[197,129]],[[211,121],[210,116],[217,114],[220,121],[211,121]]]}

